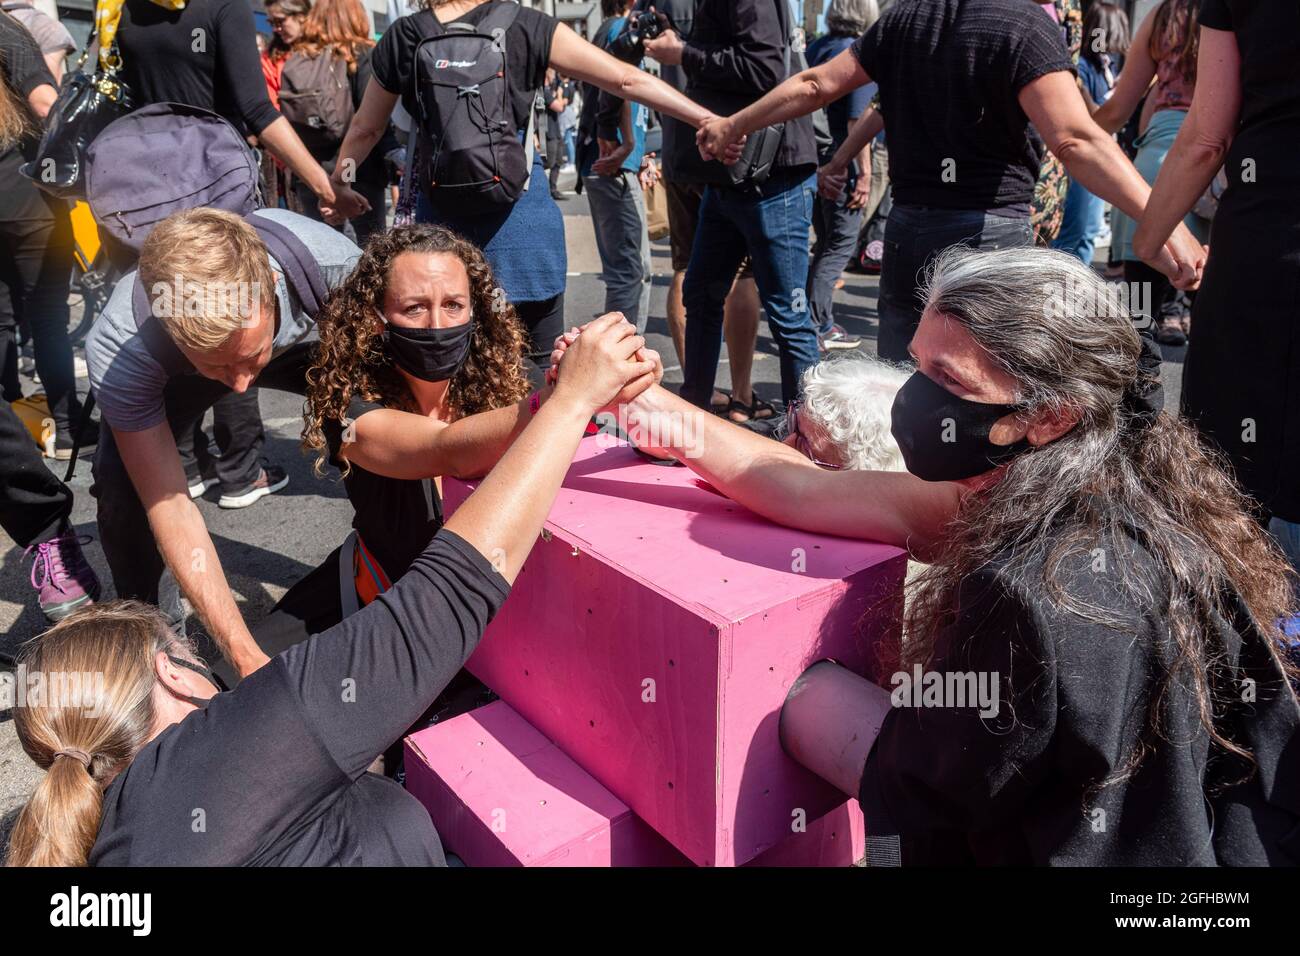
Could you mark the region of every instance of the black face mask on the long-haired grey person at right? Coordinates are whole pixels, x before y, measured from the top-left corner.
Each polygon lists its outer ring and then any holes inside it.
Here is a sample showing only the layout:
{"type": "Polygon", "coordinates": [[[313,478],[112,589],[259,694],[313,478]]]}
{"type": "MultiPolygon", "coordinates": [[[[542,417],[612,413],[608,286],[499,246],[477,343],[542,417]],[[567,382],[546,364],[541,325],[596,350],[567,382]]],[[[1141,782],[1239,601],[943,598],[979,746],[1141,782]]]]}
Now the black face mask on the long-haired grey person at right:
{"type": "Polygon", "coordinates": [[[985,405],[958,398],[923,372],[915,372],[894,397],[892,427],[907,471],[924,481],[959,481],[983,475],[1030,447],[989,441],[988,432],[1019,405],[985,405]]]}

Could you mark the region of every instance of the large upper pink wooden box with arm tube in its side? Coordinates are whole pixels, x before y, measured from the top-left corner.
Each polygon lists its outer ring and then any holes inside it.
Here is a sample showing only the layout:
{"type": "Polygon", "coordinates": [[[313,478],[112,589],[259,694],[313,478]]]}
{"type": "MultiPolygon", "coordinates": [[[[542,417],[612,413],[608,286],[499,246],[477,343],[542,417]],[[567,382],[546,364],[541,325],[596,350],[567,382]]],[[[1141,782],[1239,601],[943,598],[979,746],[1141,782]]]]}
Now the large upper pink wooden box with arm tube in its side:
{"type": "Polygon", "coordinates": [[[469,669],[692,861],[740,865],[844,803],[777,715],[819,658],[867,671],[905,568],[594,436],[469,669]]]}

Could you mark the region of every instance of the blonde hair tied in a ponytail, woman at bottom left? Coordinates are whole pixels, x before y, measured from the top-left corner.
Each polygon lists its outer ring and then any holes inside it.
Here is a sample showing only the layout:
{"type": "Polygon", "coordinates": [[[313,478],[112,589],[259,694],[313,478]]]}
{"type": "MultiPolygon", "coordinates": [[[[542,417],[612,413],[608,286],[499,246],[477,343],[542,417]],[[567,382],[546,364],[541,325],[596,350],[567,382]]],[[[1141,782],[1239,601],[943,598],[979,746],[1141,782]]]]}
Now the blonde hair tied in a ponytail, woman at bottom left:
{"type": "Polygon", "coordinates": [[[104,788],[148,741],[153,658],[177,643],[156,607],[91,605],[38,637],[18,662],[40,695],[14,708],[22,749],[46,770],[9,840],[9,866],[84,866],[104,788]]]}

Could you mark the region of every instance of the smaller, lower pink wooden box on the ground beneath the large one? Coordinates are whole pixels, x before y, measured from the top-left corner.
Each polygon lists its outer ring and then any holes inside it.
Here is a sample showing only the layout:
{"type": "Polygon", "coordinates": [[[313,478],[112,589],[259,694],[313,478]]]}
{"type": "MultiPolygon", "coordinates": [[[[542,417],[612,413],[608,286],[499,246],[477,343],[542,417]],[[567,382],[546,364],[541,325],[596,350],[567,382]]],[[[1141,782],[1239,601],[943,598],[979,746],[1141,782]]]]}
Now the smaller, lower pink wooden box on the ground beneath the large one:
{"type": "Polygon", "coordinates": [[[406,774],[469,866],[690,862],[504,701],[408,736],[406,774]]]}

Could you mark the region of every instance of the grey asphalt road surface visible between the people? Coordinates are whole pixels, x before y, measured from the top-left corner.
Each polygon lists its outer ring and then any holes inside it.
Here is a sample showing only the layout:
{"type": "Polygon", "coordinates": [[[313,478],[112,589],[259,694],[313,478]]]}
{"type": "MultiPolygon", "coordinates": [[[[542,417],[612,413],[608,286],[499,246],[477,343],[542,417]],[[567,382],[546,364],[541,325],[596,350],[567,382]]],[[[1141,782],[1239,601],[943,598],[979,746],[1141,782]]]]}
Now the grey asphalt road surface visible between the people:
{"type": "MultiPolygon", "coordinates": [[[[572,177],[566,177],[562,183],[567,186],[571,179],[572,177]]],[[[569,250],[566,312],[569,324],[581,324],[603,312],[601,263],[585,198],[572,196],[562,203],[562,208],[569,250]]],[[[653,261],[654,287],[647,339],[663,355],[664,384],[680,385],[681,369],[664,319],[672,276],[667,241],[654,243],[653,261]]],[[[862,347],[872,354],[876,294],[876,278],[848,273],[845,286],[836,293],[835,299],[837,321],[850,333],[862,336],[862,347]]],[[[1184,351],[1166,349],[1165,352],[1166,405],[1170,408],[1176,408],[1184,351]]],[[[83,371],[83,367],[79,368],[83,371]]],[[[774,403],[780,401],[776,346],[766,324],[759,329],[753,381],[762,398],[774,403]]],[[[718,384],[724,389],[731,385],[725,350],[718,384]]],[[[39,389],[31,380],[25,380],[23,385],[27,393],[39,389]]],[[[84,377],[81,380],[81,389],[84,389],[84,377]]],[[[216,489],[199,502],[235,598],[244,619],[250,622],[265,614],[294,581],[321,562],[342,541],[351,520],[342,484],[335,479],[317,479],[312,473],[311,459],[299,449],[302,398],[265,390],[260,401],[266,425],[266,457],[289,472],[287,488],[246,510],[218,509],[216,489]]],[[[57,463],[60,476],[64,468],[65,463],[57,463]]],[[[104,584],[104,597],[112,597],[112,583],[95,529],[88,453],[83,453],[83,460],[70,484],[77,496],[73,520],[78,532],[90,540],[86,554],[104,584]]],[[[0,531],[0,672],[9,666],[21,644],[40,633],[46,626],[36,607],[30,575],[31,561],[25,559],[22,550],[0,531]]],[[[39,770],[18,745],[12,711],[0,709],[0,856],[17,808],[26,800],[38,775],[39,770]]]]}

